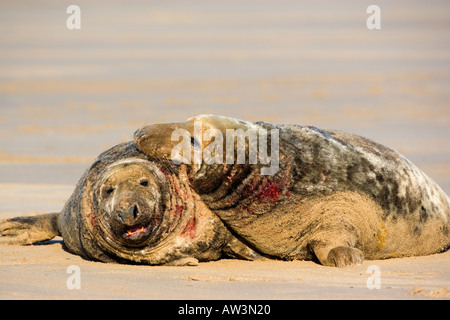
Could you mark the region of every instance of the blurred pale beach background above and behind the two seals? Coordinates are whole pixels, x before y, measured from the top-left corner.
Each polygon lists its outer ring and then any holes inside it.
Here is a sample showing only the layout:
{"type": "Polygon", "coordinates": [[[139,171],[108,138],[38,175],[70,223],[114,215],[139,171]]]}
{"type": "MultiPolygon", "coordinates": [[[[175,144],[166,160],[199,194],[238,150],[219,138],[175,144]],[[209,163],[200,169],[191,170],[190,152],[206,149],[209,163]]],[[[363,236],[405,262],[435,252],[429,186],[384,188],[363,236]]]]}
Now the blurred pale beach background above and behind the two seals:
{"type": "Polygon", "coordinates": [[[0,1],[0,218],[59,211],[102,151],[199,113],[356,133],[450,194],[450,2],[0,1]]]}

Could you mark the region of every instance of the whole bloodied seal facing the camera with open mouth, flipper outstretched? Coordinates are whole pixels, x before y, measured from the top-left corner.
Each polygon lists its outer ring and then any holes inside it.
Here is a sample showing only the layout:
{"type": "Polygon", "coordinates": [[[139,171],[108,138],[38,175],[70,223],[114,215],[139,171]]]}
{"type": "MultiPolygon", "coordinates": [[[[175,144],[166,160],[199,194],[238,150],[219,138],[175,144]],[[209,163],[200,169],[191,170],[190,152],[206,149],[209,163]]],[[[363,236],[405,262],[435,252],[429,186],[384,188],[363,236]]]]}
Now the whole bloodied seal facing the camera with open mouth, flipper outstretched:
{"type": "Polygon", "coordinates": [[[60,213],[4,220],[0,233],[0,243],[20,245],[60,235],[87,259],[152,265],[215,260],[239,242],[189,187],[182,168],[152,161],[132,142],[102,153],[60,213]]]}

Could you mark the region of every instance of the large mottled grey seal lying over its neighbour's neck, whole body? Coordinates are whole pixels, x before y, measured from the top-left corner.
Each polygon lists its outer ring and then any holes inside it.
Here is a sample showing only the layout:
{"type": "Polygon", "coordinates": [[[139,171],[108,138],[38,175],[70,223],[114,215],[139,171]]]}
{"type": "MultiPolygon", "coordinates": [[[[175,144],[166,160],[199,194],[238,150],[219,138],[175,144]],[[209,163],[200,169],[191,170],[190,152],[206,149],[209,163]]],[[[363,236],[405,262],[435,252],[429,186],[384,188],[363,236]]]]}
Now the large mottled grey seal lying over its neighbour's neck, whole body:
{"type": "Polygon", "coordinates": [[[450,245],[448,196],[402,155],[353,134],[200,115],[144,127],[134,141],[150,157],[184,163],[192,188],[250,252],[345,266],[450,245]],[[235,142],[238,130],[257,137],[235,142]],[[192,154],[180,145],[186,136],[192,154]],[[267,161],[249,161],[252,150],[267,160],[261,143],[276,155],[273,174],[263,174],[267,161]]]}

